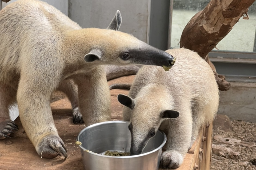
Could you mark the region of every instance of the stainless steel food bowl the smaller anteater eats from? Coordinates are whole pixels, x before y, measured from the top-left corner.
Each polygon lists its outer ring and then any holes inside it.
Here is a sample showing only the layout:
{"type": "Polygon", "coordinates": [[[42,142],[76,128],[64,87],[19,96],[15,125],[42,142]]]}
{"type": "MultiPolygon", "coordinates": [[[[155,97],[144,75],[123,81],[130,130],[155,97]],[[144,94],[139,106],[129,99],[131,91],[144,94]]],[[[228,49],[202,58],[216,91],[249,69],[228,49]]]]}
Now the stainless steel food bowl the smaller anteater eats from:
{"type": "Polygon", "coordinates": [[[157,170],[166,143],[166,135],[158,130],[142,154],[106,156],[106,151],[130,152],[131,133],[127,121],[108,121],[90,125],[77,136],[85,170],[157,170]]]}

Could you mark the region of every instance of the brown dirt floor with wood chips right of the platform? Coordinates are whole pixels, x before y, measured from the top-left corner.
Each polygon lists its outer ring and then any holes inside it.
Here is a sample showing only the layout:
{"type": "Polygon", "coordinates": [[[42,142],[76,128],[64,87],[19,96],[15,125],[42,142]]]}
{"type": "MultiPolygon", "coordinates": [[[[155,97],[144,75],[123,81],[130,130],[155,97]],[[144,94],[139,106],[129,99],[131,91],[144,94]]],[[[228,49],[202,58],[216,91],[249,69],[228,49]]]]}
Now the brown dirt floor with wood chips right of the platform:
{"type": "Polygon", "coordinates": [[[255,170],[256,124],[235,120],[230,125],[233,130],[213,131],[211,170],[255,170]]]}

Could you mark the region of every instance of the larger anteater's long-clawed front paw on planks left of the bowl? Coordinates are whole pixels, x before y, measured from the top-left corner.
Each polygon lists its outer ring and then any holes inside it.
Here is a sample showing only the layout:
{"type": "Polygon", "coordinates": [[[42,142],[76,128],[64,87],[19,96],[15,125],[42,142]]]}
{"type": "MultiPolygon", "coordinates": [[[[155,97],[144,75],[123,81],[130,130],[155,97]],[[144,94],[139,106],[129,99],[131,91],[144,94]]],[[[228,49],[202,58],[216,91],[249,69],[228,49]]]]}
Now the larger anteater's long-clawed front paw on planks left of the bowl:
{"type": "Polygon", "coordinates": [[[67,150],[62,139],[55,135],[48,135],[37,146],[37,153],[42,158],[55,158],[64,156],[67,158],[67,150]]]}

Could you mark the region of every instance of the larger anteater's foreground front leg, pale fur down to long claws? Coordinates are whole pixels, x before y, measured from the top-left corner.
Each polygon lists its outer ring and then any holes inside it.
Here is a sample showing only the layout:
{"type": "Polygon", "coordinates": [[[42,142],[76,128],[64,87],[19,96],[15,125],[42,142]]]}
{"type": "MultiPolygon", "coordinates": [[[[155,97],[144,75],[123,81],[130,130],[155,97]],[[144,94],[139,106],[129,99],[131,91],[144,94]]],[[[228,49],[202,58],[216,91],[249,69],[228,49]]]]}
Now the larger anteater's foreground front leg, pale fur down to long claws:
{"type": "Polygon", "coordinates": [[[67,151],[54,125],[50,96],[58,84],[58,76],[49,72],[39,75],[21,74],[17,102],[22,126],[38,155],[55,158],[67,151]]]}

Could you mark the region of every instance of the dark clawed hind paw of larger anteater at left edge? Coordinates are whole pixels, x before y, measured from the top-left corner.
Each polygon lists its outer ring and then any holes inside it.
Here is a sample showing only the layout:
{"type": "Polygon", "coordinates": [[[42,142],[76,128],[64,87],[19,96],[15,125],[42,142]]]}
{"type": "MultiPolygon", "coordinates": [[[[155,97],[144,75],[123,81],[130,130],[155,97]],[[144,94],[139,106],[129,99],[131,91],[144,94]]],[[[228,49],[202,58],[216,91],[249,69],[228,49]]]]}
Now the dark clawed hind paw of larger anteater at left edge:
{"type": "Polygon", "coordinates": [[[18,131],[18,126],[11,120],[0,122],[0,139],[10,138],[9,135],[13,130],[18,131]]]}

